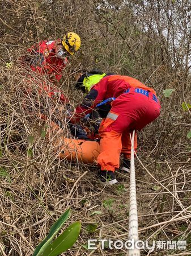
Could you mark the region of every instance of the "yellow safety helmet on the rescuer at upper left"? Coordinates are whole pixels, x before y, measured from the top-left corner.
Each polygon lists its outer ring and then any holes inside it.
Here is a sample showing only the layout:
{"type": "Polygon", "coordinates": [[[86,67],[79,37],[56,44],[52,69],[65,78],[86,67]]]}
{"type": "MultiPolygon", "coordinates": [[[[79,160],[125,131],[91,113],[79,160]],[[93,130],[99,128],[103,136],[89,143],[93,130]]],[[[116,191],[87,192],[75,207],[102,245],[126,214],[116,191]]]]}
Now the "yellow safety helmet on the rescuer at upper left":
{"type": "Polygon", "coordinates": [[[69,32],[63,36],[62,44],[66,51],[73,55],[76,51],[78,51],[81,40],[79,35],[74,32],[69,32]]]}

